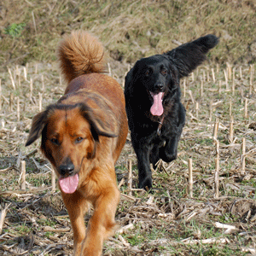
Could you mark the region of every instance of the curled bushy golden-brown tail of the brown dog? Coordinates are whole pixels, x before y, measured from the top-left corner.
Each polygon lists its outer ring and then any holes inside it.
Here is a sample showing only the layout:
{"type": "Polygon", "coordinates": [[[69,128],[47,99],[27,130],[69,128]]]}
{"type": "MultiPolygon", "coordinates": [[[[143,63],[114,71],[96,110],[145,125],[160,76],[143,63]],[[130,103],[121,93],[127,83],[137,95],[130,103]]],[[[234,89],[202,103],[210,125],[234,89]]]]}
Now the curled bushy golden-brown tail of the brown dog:
{"type": "Polygon", "coordinates": [[[58,56],[61,73],[68,83],[86,73],[102,73],[106,68],[102,44],[82,30],[64,36],[58,47],[58,56]]]}

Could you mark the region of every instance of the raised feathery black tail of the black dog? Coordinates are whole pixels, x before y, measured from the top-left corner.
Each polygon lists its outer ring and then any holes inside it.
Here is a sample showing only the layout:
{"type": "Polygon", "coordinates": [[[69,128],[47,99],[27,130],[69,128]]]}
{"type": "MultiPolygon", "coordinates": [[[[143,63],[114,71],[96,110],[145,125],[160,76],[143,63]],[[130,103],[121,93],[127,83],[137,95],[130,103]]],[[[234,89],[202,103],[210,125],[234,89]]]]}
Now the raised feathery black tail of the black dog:
{"type": "Polygon", "coordinates": [[[182,44],[164,55],[171,57],[177,66],[180,78],[183,78],[205,61],[208,50],[217,44],[218,38],[216,36],[207,35],[190,43],[182,44]]]}

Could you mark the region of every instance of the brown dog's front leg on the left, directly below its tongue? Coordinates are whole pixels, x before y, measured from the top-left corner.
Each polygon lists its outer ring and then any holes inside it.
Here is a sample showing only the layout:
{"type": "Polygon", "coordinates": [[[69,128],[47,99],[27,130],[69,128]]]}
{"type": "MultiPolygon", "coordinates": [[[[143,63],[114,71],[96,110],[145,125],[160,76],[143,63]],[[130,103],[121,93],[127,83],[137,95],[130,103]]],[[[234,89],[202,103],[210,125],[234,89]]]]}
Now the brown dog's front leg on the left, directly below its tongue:
{"type": "Polygon", "coordinates": [[[85,237],[84,214],[88,210],[88,201],[78,191],[73,194],[61,193],[73,228],[73,255],[78,256],[85,237]]]}

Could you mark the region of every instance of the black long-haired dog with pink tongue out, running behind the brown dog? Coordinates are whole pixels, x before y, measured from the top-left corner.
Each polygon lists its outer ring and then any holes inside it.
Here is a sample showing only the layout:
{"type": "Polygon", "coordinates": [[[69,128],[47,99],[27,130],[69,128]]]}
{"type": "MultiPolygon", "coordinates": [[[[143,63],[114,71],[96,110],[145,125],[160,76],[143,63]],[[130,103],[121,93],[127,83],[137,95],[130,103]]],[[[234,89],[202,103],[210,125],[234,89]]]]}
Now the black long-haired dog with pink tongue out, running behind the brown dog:
{"type": "Polygon", "coordinates": [[[163,55],[136,62],[125,77],[125,103],[132,146],[137,154],[139,188],[150,189],[149,163],[177,158],[185,124],[179,81],[206,59],[218,38],[207,35],[163,55]]]}

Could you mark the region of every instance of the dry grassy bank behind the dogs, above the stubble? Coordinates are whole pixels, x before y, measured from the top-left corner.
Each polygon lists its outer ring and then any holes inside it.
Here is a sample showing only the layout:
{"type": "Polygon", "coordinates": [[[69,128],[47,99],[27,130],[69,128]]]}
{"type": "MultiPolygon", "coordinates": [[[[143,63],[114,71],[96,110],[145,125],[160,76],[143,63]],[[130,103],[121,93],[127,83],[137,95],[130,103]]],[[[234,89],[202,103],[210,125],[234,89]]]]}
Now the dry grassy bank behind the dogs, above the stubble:
{"type": "Polygon", "coordinates": [[[9,1],[0,3],[0,65],[55,60],[61,34],[89,30],[115,60],[136,61],[207,33],[221,38],[211,58],[255,62],[253,1],[9,1]],[[34,19],[33,19],[34,17],[34,19]],[[12,36],[15,24],[23,24],[12,36]]]}

